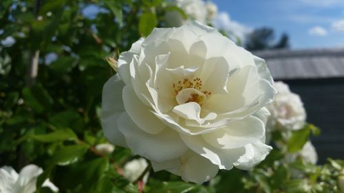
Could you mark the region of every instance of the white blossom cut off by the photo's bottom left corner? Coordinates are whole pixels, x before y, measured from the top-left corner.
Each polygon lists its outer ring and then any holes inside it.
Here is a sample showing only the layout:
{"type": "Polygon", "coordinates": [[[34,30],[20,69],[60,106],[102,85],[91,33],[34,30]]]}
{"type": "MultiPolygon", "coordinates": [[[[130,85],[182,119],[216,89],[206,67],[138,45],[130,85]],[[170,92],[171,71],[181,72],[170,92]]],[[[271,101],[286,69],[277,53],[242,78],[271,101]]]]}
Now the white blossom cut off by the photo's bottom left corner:
{"type": "MultiPolygon", "coordinates": [[[[0,168],[0,192],[1,193],[32,193],[36,192],[37,177],[43,173],[42,168],[36,165],[25,166],[19,174],[10,166],[0,168]]],[[[58,192],[58,188],[46,179],[42,185],[58,192]]]]}

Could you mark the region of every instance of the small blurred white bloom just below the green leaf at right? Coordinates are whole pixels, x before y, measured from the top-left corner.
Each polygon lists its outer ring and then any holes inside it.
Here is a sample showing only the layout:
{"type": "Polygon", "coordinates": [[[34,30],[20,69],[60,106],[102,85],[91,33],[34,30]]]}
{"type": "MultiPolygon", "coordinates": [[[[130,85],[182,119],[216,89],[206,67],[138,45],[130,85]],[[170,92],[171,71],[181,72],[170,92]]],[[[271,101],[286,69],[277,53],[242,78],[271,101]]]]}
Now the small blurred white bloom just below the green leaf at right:
{"type": "Polygon", "coordinates": [[[301,150],[299,150],[299,152],[288,154],[286,156],[286,160],[290,163],[295,161],[297,157],[301,157],[303,161],[312,164],[316,164],[316,161],[318,161],[318,155],[316,154],[316,150],[310,141],[307,141],[307,143],[305,143],[305,145],[301,150]]]}

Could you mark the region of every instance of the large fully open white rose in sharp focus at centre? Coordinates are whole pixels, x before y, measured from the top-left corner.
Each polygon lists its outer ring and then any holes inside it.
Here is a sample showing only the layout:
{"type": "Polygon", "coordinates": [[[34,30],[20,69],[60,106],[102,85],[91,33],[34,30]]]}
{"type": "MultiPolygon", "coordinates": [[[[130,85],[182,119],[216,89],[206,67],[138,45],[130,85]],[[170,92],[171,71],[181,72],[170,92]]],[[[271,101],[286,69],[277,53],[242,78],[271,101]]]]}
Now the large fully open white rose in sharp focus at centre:
{"type": "Polygon", "coordinates": [[[118,60],[103,89],[105,136],[184,181],[250,169],[275,89],[264,60],[200,23],[155,28],[118,60]]]}

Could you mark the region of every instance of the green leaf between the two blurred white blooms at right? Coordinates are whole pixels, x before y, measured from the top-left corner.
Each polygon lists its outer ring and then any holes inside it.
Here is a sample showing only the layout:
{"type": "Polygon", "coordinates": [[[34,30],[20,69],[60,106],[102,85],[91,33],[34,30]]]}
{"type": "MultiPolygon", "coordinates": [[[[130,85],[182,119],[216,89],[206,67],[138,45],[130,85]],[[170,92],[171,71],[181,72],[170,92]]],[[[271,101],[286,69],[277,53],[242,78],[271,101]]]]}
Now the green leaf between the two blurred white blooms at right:
{"type": "Polygon", "coordinates": [[[307,126],[296,130],[292,133],[292,137],[287,141],[287,147],[289,153],[294,153],[303,148],[305,143],[308,141],[308,137],[310,135],[310,128],[307,126]]]}

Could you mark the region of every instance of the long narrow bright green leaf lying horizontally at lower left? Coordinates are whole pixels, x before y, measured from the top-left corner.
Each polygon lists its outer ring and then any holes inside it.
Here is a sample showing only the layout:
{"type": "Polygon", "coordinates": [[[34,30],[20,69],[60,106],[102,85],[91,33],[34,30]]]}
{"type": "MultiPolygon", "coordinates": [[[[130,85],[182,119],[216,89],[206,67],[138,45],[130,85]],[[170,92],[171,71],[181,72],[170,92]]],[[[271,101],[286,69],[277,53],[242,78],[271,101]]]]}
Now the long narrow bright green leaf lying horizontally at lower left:
{"type": "Polygon", "coordinates": [[[48,133],[45,135],[32,135],[32,136],[30,136],[30,138],[32,138],[36,141],[41,141],[41,142],[45,142],[45,143],[78,139],[78,137],[76,136],[74,131],[69,129],[69,128],[58,129],[52,133],[48,133]]]}

